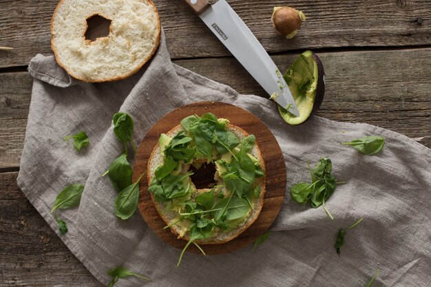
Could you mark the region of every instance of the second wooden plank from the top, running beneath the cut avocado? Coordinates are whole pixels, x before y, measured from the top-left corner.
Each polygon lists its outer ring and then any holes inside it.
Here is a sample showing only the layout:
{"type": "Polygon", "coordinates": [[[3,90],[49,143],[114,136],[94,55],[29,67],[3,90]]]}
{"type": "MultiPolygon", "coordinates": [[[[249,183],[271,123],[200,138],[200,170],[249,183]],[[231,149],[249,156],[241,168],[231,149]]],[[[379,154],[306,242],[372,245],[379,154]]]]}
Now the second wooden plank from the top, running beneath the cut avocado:
{"type": "MultiPolygon", "coordinates": [[[[273,59],[286,70],[297,55],[273,59]]],[[[431,147],[431,49],[319,54],[326,96],[317,115],[392,129],[431,147]]],[[[175,61],[193,72],[231,85],[242,94],[266,96],[233,58],[175,61]]],[[[31,81],[27,73],[0,74],[0,168],[18,167],[31,81]]]]}

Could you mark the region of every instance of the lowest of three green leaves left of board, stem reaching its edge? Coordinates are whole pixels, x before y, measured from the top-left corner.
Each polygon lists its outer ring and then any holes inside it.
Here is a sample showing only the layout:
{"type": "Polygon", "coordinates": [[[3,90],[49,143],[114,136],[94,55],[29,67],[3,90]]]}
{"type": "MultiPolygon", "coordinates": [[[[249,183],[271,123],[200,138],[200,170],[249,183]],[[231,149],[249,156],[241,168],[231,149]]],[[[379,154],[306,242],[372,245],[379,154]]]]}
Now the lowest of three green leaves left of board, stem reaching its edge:
{"type": "Polygon", "coordinates": [[[115,215],[122,220],[127,220],[134,215],[139,202],[139,182],[145,173],[120,193],[115,201],[115,215]]]}

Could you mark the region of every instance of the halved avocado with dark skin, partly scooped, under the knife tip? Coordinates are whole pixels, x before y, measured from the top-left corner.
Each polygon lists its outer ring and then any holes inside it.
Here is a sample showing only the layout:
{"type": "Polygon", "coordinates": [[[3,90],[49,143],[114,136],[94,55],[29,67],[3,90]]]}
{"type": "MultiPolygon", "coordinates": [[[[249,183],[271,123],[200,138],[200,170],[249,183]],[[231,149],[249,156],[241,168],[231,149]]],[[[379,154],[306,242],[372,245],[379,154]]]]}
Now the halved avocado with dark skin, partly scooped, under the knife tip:
{"type": "Polygon", "coordinates": [[[286,123],[302,124],[315,114],[324,99],[325,72],[322,62],[316,54],[306,51],[299,55],[283,77],[295,99],[299,116],[280,105],[278,110],[286,123]]]}

